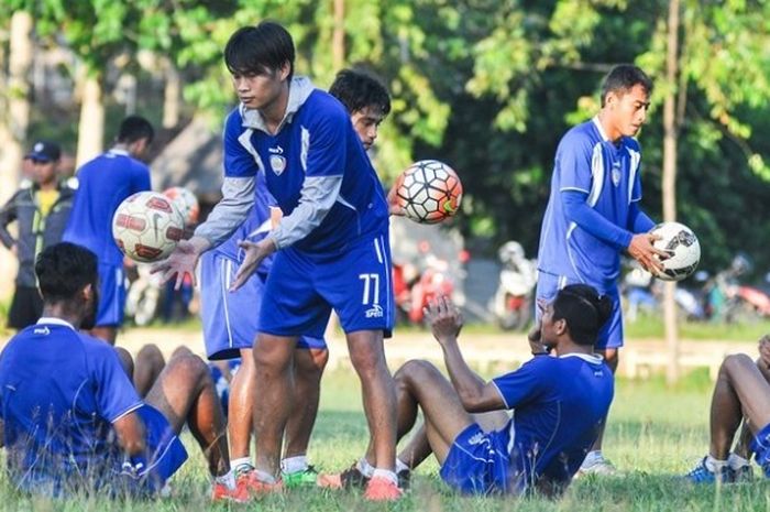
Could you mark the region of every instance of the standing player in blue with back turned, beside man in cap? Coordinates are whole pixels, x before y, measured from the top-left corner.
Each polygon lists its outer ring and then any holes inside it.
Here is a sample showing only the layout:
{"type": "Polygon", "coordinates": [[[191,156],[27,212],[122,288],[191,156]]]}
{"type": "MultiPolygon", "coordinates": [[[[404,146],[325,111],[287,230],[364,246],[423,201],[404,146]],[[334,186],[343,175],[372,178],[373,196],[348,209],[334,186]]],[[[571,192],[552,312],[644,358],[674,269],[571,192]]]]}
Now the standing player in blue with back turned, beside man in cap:
{"type": "Polygon", "coordinates": [[[150,168],[140,161],[155,132],[139,116],[120,123],[114,145],[77,173],[79,182],[63,240],[90,249],[99,259],[99,313],[91,334],[114,345],[123,325],[123,253],[112,238],[112,216],[132,194],[150,190],[150,168]]]}

